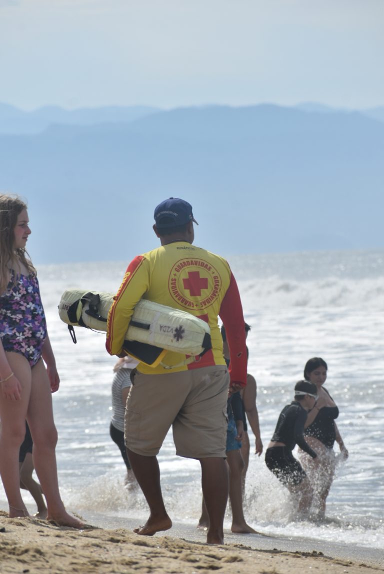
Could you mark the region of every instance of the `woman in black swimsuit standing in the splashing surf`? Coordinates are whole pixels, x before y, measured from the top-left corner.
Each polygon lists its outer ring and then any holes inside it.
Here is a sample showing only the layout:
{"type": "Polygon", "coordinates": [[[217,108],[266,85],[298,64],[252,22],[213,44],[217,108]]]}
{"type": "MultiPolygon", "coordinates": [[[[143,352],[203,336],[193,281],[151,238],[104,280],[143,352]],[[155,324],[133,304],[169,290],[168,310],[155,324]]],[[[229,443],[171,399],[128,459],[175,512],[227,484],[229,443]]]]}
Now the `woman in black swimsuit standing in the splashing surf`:
{"type": "Polygon", "coordinates": [[[325,503],[335,475],[336,456],[333,450],[335,441],[339,444],[344,460],[348,457],[348,451],[335,422],[339,416],[339,409],[323,386],[327,379],[327,370],[327,363],[320,357],[309,359],[305,365],[304,378],[316,385],[318,399],[314,408],[308,413],[304,435],[306,442],[318,456],[312,459],[300,451],[302,466],[314,488],[313,505],[320,519],[325,517],[325,503]]]}

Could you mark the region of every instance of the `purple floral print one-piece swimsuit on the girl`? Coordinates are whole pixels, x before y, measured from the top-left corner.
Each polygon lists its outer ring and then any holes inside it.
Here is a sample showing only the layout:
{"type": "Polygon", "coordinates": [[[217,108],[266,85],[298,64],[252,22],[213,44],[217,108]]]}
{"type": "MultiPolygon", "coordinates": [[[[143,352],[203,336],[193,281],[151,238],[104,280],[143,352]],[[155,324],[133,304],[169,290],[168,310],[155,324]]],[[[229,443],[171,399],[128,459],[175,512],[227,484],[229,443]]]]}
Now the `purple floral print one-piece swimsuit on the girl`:
{"type": "Polygon", "coordinates": [[[13,269],[6,292],[0,297],[0,338],[5,351],[21,353],[33,367],[47,338],[47,322],[37,277],[13,269]]]}

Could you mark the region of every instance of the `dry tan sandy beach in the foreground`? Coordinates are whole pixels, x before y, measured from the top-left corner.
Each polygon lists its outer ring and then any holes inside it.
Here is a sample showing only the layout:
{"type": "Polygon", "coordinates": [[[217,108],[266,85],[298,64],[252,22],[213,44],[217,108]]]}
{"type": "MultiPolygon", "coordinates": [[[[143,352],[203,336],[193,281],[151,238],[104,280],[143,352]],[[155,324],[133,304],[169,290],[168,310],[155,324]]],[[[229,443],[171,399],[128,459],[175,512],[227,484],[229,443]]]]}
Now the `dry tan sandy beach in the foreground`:
{"type": "Polygon", "coordinates": [[[141,537],[132,530],[59,528],[51,523],[0,515],[0,572],[41,574],[128,574],[156,572],[197,574],[217,570],[222,574],[365,574],[384,572],[379,565],[325,556],[321,552],[286,552],[255,549],[239,544],[209,546],[167,533],[141,537]]]}

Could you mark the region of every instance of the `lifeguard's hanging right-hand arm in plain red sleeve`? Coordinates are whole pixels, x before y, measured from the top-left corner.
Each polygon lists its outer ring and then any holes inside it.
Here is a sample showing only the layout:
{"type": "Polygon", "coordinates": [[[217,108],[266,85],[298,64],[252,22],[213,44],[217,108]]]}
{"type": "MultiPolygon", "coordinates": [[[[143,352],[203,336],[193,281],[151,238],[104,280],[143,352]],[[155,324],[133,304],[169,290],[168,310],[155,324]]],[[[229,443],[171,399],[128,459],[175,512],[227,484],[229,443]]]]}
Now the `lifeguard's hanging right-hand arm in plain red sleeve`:
{"type": "Polygon", "coordinates": [[[239,390],[247,385],[247,349],[245,347],[243,307],[232,272],[229,287],[221,302],[218,315],[224,324],[226,340],[228,341],[231,358],[229,365],[231,385],[239,390]]]}

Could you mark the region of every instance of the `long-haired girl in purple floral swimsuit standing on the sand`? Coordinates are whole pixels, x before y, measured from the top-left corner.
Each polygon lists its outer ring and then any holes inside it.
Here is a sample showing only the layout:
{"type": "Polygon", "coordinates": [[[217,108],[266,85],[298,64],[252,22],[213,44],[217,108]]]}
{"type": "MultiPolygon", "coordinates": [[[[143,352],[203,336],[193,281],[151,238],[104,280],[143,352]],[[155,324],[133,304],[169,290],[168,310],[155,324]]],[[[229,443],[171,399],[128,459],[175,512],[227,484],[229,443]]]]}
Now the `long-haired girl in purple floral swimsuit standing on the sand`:
{"type": "Polygon", "coordinates": [[[52,393],[59,388],[60,379],[36,270],[25,250],[28,223],[25,203],[18,197],[0,195],[0,475],[9,516],[28,516],[21,498],[18,463],[27,420],[34,467],[47,500],[47,518],[62,526],[82,528],[83,523],[67,513],[60,498],[52,410],[52,393]]]}

